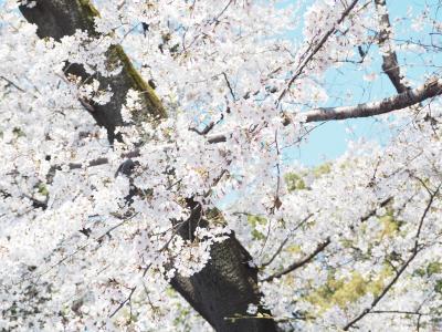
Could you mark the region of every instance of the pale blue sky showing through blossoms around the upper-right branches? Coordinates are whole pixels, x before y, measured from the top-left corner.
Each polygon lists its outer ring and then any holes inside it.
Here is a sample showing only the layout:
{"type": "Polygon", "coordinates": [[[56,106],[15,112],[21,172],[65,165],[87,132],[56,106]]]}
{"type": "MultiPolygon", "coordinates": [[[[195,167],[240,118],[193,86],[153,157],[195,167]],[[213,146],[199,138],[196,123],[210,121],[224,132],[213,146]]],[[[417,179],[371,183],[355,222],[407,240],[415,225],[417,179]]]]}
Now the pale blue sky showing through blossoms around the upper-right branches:
{"type": "MultiPolygon", "coordinates": [[[[313,3],[313,1],[307,1],[307,3],[313,3]]],[[[411,21],[397,21],[399,18],[406,17],[408,10],[411,10],[413,15],[420,14],[425,3],[429,4],[431,9],[434,8],[431,6],[438,3],[438,0],[387,0],[390,20],[394,27],[396,39],[408,40],[412,38],[423,41],[422,35],[427,34],[427,38],[429,37],[430,31],[428,27],[423,27],[423,31],[421,32],[414,32],[410,28],[412,24],[411,21]]],[[[430,10],[430,15],[435,17],[436,14],[436,12],[431,12],[430,10]]],[[[441,20],[441,18],[442,14],[439,15],[439,20],[441,20]]],[[[294,34],[294,38],[297,37],[298,35],[294,34]]],[[[442,39],[432,41],[442,46],[442,39]]],[[[373,48],[372,52],[372,54],[376,54],[377,49],[373,48]]],[[[425,73],[431,73],[434,69],[423,65],[424,61],[429,59],[429,56],[423,54],[406,54],[403,52],[398,52],[398,58],[399,64],[407,68],[407,77],[417,83],[423,83],[424,79],[422,76],[425,73]]],[[[439,65],[442,65],[441,60],[442,56],[440,56],[439,65]]],[[[345,65],[339,70],[329,70],[326,75],[326,81],[330,86],[328,90],[329,95],[339,96],[345,94],[346,91],[351,91],[354,93],[354,100],[352,102],[347,102],[346,104],[348,105],[376,101],[396,93],[388,77],[382,74],[380,55],[375,58],[369,70],[370,72],[377,73],[380,79],[376,82],[365,82],[362,75],[368,72],[356,71],[352,65],[345,65]]],[[[324,106],[340,105],[344,104],[337,98],[330,97],[328,103],[324,106]]],[[[346,151],[349,141],[365,138],[385,144],[388,142],[390,135],[391,133],[389,133],[388,128],[376,121],[376,118],[328,122],[313,131],[308,136],[307,143],[287,152],[286,157],[308,166],[318,165],[325,160],[333,160],[341,155],[346,151]]]]}

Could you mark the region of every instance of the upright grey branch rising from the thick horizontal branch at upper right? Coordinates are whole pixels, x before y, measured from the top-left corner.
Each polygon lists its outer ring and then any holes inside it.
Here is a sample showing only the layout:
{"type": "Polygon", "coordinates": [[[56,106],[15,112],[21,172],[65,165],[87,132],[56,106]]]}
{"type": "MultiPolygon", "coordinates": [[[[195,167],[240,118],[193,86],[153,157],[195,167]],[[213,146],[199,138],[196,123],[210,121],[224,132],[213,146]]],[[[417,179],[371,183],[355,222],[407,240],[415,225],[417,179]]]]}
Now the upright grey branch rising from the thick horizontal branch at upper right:
{"type": "Polygon", "coordinates": [[[391,24],[390,18],[387,11],[386,0],[375,0],[376,10],[379,15],[379,39],[378,43],[382,50],[382,70],[390,79],[391,83],[394,85],[399,93],[402,93],[410,87],[401,83],[403,75],[400,73],[400,68],[398,63],[398,55],[396,54],[391,45],[391,24]]]}

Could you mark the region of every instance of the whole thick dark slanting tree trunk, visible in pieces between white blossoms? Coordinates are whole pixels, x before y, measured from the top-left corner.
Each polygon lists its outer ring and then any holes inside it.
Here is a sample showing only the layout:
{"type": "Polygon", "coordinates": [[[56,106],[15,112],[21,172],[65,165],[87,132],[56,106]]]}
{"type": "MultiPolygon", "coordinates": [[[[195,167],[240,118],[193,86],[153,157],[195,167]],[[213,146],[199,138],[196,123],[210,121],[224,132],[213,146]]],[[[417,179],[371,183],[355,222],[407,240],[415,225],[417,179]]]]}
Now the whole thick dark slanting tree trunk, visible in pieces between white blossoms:
{"type": "MultiPolygon", "coordinates": [[[[87,0],[39,0],[35,7],[20,7],[20,11],[29,22],[38,25],[36,33],[40,38],[52,37],[60,40],[64,35],[73,34],[77,29],[97,35],[94,30],[94,17],[98,13],[87,0]]],[[[94,79],[98,80],[103,87],[110,86],[114,95],[108,104],[91,105],[92,110],[88,111],[96,123],[107,129],[109,141],[113,142],[118,139],[114,134],[115,127],[124,125],[120,108],[129,89],[143,92],[144,112],[139,121],[155,121],[165,117],[166,112],[155,92],[135,71],[119,45],[108,50],[107,60],[109,64],[119,61],[124,65],[123,71],[115,76],[96,75],[94,79]]],[[[66,65],[66,73],[83,80],[88,79],[84,69],[77,64],[66,65]]],[[[192,230],[196,222],[201,220],[201,210],[192,200],[189,200],[189,207],[192,208],[192,216],[180,231],[185,238],[189,237],[189,228],[192,230]]],[[[249,267],[250,259],[249,252],[234,235],[231,235],[228,240],[212,247],[211,260],[201,272],[191,278],[176,277],[171,286],[217,331],[275,331],[273,320],[229,320],[238,315],[246,317],[248,304],[260,302],[257,271],[249,267]]]]}

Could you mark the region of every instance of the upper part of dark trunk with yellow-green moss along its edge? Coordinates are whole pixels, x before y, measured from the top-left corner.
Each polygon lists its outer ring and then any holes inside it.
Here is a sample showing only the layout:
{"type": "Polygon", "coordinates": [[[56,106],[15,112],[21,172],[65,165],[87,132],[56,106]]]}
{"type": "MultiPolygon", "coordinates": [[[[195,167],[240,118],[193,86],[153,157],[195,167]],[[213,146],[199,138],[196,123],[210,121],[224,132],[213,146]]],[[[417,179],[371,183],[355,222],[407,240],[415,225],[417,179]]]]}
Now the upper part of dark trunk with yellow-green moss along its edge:
{"type": "MultiPolygon", "coordinates": [[[[50,37],[60,41],[64,35],[74,34],[75,30],[87,31],[90,35],[98,37],[94,30],[94,17],[98,15],[98,12],[86,0],[39,0],[33,8],[21,6],[20,11],[29,22],[38,25],[36,34],[40,38],[50,37]]],[[[137,73],[120,45],[109,48],[106,64],[110,68],[120,64],[123,70],[119,74],[109,77],[99,74],[95,74],[93,77],[98,80],[101,87],[109,86],[114,95],[106,105],[91,103],[87,105],[87,111],[99,126],[107,129],[110,143],[118,138],[114,134],[115,127],[124,125],[120,108],[129,89],[141,92],[140,97],[145,112],[139,113],[139,117],[166,116],[154,90],[137,73]]],[[[66,64],[65,73],[80,76],[83,82],[92,79],[83,66],[76,63],[66,64]]],[[[82,101],[82,104],[85,105],[85,102],[82,101]]]]}

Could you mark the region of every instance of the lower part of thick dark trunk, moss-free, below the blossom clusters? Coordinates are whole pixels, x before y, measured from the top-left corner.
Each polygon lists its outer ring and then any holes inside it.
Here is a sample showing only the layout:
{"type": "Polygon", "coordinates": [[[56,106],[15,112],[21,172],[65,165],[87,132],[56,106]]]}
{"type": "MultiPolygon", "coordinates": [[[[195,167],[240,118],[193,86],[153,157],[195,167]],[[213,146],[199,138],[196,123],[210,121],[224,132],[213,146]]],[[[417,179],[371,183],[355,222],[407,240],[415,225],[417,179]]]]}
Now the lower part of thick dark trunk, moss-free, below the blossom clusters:
{"type": "MultiPolygon", "coordinates": [[[[209,221],[204,218],[201,206],[188,199],[191,216],[180,229],[183,239],[192,240],[197,226],[203,227],[209,221]]],[[[249,303],[259,304],[261,293],[257,287],[257,269],[251,268],[250,253],[235,239],[234,234],[211,248],[212,259],[191,278],[176,277],[171,284],[217,331],[275,331],[273,320],[234,319],[248,317],[249,303]]],[[[260,308],[261,313],[271,314],[260,308]]]]}

